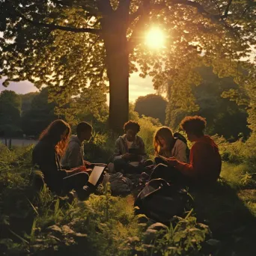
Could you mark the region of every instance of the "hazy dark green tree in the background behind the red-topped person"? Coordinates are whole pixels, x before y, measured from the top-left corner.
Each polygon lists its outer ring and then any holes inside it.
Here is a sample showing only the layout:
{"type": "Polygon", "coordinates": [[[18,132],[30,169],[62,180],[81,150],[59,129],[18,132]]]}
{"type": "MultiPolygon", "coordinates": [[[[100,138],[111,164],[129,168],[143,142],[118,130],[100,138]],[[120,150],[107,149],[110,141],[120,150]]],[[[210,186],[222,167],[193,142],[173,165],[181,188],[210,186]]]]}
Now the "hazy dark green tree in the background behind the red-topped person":
{"type": "Polygon", "coordinates": [[[196,114],[207,118],[207,132],[223,135],[230,140],[237,140],[242,134],[248,138],[251,131],[245,103],[237,105],[222,97],[223,91],[236,90],[239,85],[231,77],[220,79],[209,67],[201,68],[199,72],[201,85],[195,86],[192,91],[200,108],[196,114]]]}

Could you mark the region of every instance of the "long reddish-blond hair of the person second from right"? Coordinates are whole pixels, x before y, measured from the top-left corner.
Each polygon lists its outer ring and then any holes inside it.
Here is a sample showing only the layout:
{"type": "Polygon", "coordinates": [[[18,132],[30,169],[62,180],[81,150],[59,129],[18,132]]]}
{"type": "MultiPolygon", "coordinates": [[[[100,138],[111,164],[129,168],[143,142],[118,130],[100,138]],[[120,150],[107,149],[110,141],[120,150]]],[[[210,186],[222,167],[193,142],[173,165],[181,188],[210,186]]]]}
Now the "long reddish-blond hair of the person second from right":
{"type": "Polygon", "coordinates": [[[159,137],[162,137],[165,140],[165,143],[167,145],[168,150],[172,150],[172,147],[174,147],[174,135],[170,128],[168,127],[161,127],[159,128],[154,137],[153,137],[153,147],[156,154],[162,154],[161,151],[161,144],[159,141],[159,137]]]}

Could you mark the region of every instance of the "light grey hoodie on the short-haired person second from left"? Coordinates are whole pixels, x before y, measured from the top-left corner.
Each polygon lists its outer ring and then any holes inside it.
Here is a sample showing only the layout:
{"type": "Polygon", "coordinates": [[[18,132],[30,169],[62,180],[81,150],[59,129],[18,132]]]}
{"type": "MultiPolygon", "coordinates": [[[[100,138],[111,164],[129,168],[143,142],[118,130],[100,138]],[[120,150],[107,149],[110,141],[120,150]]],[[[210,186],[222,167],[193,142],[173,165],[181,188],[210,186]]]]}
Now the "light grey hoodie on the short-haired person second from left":
{"type": "Polygon", "coordinates": [[[72,169],[84,165],[84,144],[75,135],[70,137],[61,165],[72,169]]]}

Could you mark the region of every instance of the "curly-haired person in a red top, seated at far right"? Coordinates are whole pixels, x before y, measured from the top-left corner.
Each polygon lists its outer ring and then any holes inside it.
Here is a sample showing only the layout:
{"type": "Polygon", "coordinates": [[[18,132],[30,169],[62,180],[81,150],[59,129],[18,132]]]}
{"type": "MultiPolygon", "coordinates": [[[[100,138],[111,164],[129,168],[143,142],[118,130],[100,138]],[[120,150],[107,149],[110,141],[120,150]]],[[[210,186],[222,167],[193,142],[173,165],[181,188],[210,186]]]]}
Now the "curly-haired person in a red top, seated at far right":
{"type": "Polygon", "coordinates": [[[206,120],[200,116],[186,117],[181,121],[180,127],[186,132],[189,141],[194,142],[190,150],[189,164],[170,157],[167,159],[168,167],[157,166],[151,178],[158,176],[165,180],[176,179],[195,186],[215,183],[222,168],[222,159],[213,139],[204,135],[206,120]]]}

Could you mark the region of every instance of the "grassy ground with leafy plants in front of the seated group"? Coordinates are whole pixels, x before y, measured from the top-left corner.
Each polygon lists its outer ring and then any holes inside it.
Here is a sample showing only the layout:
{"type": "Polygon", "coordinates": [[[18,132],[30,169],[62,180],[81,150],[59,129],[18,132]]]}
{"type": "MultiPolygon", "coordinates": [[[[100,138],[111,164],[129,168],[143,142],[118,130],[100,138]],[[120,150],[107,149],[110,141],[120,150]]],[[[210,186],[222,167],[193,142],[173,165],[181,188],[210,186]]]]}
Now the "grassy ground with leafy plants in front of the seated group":
{"type": "Polygon", "coordinates": [[[251,160],[224,162],[214,189],[191,192],[190,216],[156,231],[145,216],[134,215],[132,195],[112,197],[108,187],[72,204],[46,188],[35,192],[31,147],[0,150],[2,255],[256,255],[251,160]]]}

